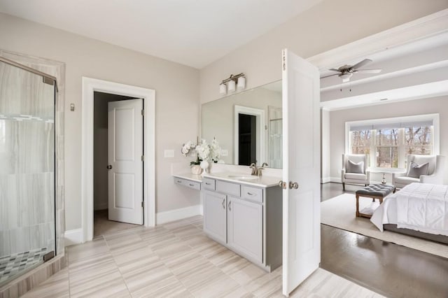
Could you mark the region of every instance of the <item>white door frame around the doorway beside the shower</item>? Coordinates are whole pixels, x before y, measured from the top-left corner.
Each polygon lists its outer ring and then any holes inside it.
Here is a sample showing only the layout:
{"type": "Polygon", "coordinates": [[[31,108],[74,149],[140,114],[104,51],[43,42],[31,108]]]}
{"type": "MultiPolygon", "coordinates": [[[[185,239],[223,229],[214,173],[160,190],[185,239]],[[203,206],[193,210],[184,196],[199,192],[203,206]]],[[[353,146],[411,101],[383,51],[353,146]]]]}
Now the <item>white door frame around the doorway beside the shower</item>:
{"type": "Polygon", "coordinates": [[[144,226],[155,227],[155,90],[83,77],[81,214],[83,242],[93,239],[94,92],[144,99],[144,226]]]}

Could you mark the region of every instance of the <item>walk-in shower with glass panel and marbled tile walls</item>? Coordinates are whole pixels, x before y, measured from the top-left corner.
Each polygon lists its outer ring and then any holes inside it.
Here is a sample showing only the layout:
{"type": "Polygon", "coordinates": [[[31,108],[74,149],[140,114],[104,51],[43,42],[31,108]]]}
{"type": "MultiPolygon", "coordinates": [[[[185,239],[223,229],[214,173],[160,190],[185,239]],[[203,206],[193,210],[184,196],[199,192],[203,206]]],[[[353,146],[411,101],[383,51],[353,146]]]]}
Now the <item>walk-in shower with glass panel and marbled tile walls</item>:
{"type": "Polygon", "coordinates": [[[56,80],[0,57],[0,286],[56,253],[56,80]]]}

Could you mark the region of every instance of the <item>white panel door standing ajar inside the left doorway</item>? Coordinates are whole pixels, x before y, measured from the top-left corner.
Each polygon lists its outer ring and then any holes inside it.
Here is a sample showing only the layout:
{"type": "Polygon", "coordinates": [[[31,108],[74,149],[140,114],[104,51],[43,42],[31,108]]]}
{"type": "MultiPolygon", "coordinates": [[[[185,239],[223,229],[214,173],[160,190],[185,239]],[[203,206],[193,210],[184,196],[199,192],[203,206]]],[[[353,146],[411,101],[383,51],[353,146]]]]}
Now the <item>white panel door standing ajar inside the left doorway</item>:
{"type": "Polygon", "coordinates": [[[108,108],[109,220],[143,225],[143,99],[108,108]]]}

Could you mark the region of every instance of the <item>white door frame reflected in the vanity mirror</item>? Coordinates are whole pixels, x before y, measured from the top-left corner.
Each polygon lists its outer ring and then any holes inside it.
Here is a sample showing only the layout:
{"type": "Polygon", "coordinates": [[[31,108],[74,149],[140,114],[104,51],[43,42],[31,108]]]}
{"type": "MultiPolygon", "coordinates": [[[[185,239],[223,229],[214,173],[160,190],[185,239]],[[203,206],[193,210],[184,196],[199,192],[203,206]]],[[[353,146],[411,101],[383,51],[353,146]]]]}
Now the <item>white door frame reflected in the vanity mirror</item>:
{"type": "Polygon", "coordinates": [[[257,129],[257,141],[259,142],[259,146],[256,146],[255,155],[258,157],[257,162],[261,165],[263,162],[267,162],[267,160],[262,161],[262,159],[266,159],[265,157],[265,110],[261,110],[260,108],[250,108],[248,106],[237,106],[235,105],[235,113],[234,113],[234,127],[233,127],[233,148],[234,148],[234,162],[238,164],[239,159],[239,117],[238,115],[253,115],[256,117],[256,129],[257,129]]]}

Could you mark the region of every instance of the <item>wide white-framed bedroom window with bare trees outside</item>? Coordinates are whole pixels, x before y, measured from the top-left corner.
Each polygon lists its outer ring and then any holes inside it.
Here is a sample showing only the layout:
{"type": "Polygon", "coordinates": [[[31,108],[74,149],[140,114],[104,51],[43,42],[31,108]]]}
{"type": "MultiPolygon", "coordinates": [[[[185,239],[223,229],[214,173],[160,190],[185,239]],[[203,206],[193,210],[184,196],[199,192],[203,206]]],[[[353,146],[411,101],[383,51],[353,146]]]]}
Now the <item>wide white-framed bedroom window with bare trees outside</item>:
{"type": "Polygon", "coordinates": [[[373,168],[406,169],[409,154],[437,154],[438,123],[438,114],[346,122],[346,151],[368,154],[373,168]]]}

